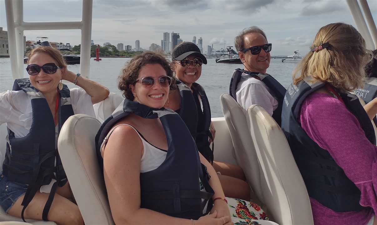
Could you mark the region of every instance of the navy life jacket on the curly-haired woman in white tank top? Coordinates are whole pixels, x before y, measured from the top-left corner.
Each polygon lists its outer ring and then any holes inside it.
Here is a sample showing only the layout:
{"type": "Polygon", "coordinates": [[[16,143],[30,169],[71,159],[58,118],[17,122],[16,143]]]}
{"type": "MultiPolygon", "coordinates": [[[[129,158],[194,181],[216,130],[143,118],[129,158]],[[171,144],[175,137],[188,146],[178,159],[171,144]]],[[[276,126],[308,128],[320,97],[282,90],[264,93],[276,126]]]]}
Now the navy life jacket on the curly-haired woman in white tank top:
{"type": "MultiPolygon", "coordinates": [[[[159,118],[167,139],[166,159],[155,170],[140,173],[141,208],[169,216],[198,219],[212,208],[214,192],[208,184],[209,175],[199,159],[198,150],[181,117],[170,109],[153,109],[138,102],[124,99],[96,136],[100,164],[100,147],[110,129],[120,119],[134,113],[142,118],[159,118]],[[200,191],[199,179],[206,192],[200,191]],[[205,201],[202,202],[202,199],[205,201]],[[207,210],[203,213],[205,205],[207,210]]],[[[104,143],[106,144],[106,143],[104,143]]]]}

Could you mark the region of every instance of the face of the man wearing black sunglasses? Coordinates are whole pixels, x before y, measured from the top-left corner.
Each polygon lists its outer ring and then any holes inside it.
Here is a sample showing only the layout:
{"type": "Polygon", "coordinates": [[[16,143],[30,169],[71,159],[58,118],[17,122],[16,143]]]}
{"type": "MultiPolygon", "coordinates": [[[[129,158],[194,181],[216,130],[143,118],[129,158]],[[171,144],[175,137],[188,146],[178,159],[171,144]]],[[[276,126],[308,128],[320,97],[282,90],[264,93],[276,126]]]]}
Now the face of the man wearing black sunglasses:
{"type": "MultiPolygon", "coordinates": [[[[250,33],[244,35],[244,48],[252,46],[259,46],[267,44],[266,38],[259,33],[250,33]]],[[[271,55],[270,52],[265,52],[261,49],[261,52],[257,55],[252,55],[250,51],[238,52],[239,58],[245,65],[245,70],[251,72],[266,73],[267,68],[270,66],[271,55]]]]}

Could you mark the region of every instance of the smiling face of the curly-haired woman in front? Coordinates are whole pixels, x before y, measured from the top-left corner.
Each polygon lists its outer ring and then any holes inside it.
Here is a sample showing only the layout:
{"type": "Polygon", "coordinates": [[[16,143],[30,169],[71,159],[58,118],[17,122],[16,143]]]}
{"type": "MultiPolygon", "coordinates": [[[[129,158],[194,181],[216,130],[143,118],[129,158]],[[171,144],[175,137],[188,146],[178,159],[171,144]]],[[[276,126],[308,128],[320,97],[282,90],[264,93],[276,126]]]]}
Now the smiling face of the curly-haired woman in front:
{"type": "Polygon", "coordinates": [[[146,64],[139,70],[137,79],[143,77],[153,77],[155,83],[151,88],[146,88],[141,82],[130,84],[130,89],[134,96],[137,96],[138,102],[146,106],[159,109],[164,107],[169,96],[170,87],[162,87],[158,78],[166,76],[166,71],[160,64],[146,64]]]}

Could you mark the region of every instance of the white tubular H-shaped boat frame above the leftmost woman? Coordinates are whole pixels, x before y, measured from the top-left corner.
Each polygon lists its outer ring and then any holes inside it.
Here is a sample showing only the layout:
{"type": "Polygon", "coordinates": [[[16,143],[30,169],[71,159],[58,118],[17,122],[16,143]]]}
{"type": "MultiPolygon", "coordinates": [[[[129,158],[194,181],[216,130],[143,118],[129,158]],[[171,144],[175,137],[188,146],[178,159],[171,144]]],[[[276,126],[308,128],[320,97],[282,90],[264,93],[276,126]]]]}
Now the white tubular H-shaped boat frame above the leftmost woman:
{"type": "Polygon", "coordinates": [[[8,28],[9,57],[13,79],[23,78],[24,31],[33,30],[81,30],[80,73],[89,77],[90,40],[92,37],[93,1],[83,1],[81,21],[23,21],[23,1],[5,0],[6,23],[8,28]]]}

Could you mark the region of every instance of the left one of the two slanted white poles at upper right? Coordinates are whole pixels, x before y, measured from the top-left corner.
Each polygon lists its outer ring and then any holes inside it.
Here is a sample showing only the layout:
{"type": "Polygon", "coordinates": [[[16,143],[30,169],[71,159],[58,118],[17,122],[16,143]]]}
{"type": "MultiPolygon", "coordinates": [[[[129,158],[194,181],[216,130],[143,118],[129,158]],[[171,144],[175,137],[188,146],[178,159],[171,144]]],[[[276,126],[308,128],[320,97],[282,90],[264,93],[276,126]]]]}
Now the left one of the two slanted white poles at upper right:
{"type": "Polygon", "coordinates": [[[359,3],[357,0],[346,0],[348,4],[349,11],[351,11],[351,15],[356,23],[357,30],[363,36],[366,48],[367,49],[374,49],[374,43],[372,41],[371,34],[369,32],[368,27],[366,26],[364,16],[361,12],[359,3]]]}

